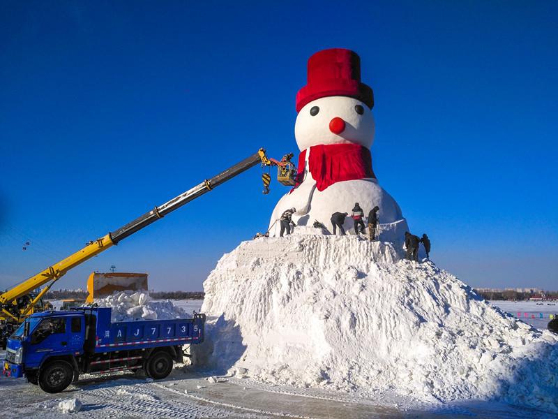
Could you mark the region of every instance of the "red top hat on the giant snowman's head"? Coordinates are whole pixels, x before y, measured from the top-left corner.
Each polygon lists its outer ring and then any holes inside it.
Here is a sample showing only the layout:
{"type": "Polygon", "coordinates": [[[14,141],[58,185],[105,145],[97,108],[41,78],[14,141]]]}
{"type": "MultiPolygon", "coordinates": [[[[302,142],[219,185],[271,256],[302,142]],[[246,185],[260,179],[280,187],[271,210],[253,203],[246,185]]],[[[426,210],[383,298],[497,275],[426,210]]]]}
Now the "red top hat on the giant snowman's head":
{"type": "Polygon", "coordinates": [[[349,96],[374,107],[372,89],[361,83],[361,58],[344,48],[316,52],[308,59],[308,84],[296,94],[296,112],[327,96],[349,96]]]}

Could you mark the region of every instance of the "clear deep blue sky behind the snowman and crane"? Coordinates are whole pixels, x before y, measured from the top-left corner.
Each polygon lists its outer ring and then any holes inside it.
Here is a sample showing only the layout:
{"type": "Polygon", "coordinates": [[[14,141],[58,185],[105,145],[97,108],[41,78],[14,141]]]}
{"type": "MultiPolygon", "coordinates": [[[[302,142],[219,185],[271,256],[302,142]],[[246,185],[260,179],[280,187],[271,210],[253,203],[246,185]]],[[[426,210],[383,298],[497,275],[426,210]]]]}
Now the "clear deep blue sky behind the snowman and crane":
{"type": "MultiPolygon", "coordinates": [[[[558,288],[555,1],[2,1],[0,288],[266,147],[313,52],[358,52],[379,182],[472,286],[558,288]],[[264,2],[266,3],[266,2],[264,2]],[[27,251],[22,245],[31,241],[27,251]]],[[[93,258],[199,290],[286,191],[260,168],[93,258]]]]}

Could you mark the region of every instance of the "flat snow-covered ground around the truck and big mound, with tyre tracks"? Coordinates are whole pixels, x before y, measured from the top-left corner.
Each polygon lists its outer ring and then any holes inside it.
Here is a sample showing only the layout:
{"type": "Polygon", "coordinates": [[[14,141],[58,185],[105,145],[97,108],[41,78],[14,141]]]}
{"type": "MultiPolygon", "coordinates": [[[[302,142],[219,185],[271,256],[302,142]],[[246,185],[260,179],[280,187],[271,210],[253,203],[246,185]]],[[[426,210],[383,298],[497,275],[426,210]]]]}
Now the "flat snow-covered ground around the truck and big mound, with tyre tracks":
{"type": "MultiPolygon", "coordinates": [[[[202,300],[175,300],[188,313],[200,311],[202,300]]],[[[554,306],[534,302],[492,302],[510,314],[543,312],[548,318],[554,306]]],[[[538,318],[526,319],[545,327],[538,318]],[[541,323],[541,324],[539,324],[541,323]]],[[[548,320],[546,320],[548,323],[548,320]]],[[[3,353],[0,353],[3,357],[3,353]]],[[[295,388],[226,377],[211,383],[212,372],[176,366],[163,381],[148,382],[144,376],[117,374],[82,376],[59,395],[42,392],[24,378],[0,378],[0,417],[59,418],[61,401],[77,398],[82,410],[71,413],[83,418],[554,418],[551,413],[501,402],[471,400],[457,403],[418,403],[391,392],[368,397],[324,389],[295,388]]],[[[213,381],[213,380],[212,380],[213,381]]]]}

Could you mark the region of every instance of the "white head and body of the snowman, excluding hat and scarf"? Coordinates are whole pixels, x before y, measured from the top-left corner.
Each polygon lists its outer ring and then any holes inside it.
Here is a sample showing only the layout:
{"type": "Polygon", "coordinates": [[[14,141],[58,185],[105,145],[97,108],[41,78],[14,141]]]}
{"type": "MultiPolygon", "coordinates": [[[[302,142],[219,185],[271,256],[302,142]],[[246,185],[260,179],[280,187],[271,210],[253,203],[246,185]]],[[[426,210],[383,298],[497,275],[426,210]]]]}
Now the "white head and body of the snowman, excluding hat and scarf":
{"type": "MultiPolygon", "coordinates": [[[[270,235],[278,236],[282,212],[296,208],[293,221],[299,226],[323,223],[331,231],[331,215],[347,212],[345,230],[354,233],[352,208],[359,203],[365,215],[379,207],[380,237],[382,241],[402,244],[407,230],[399,205],[382,189],[375,177],[334,182],[320,191],[316,176],[309,170],[312,147],[319,145],[353,144],[370,149],[374,140],[374,117],[363,102],[347,96],[318,98],[303,106],[295,124],[295,137],[301,151],[306,150],[301,184],[283,196],[271,215],[270,235]]],[[[370,168],[371,169],[371,168],[370,168]]],[[[365,219],[365,223],[366,223],[365,219]]]]}

